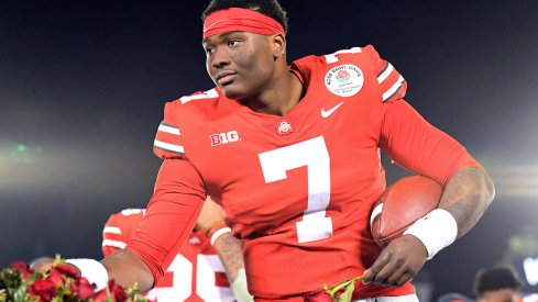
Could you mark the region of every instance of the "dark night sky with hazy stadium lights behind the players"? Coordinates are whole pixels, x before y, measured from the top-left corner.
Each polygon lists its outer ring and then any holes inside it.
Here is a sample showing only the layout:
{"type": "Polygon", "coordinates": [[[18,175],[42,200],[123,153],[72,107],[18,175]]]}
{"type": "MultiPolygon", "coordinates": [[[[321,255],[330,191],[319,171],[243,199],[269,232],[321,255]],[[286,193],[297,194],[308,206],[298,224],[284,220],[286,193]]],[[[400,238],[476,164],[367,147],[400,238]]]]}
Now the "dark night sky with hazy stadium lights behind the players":
{"type": "MultiPolygon", "coordinates": [[[[108,215],[145,206],[164,102],[212,87],[205,4],[0,2],[1,267],[100,258],[108,215]]],[[[493,176],[494,204],[417,277],[432,298],[472,295],[477,269],[538,257],[538,1],[282,4],[289,61],[373,44],[408,81],[406,99],[493,176]]],[[[388,182],[404,174],[387,167],[388,182]]]]}

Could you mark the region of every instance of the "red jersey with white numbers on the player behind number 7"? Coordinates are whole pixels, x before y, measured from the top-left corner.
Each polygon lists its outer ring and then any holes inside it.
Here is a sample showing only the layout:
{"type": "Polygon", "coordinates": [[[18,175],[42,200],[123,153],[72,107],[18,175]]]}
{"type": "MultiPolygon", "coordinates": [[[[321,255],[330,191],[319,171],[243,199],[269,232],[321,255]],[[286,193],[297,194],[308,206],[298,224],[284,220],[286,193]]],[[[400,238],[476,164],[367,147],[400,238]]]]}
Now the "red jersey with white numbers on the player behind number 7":
{"type": "MultiPolygon", "coordinates": [[[[129,209],[112,214],[102,231],[105,257],[125,248],[144,216],[144,210],[129,209]]],[[[235,301],[224,267],[204,231],[193,232],[155,287],[145,293],[158,302],[235,301]]]]}

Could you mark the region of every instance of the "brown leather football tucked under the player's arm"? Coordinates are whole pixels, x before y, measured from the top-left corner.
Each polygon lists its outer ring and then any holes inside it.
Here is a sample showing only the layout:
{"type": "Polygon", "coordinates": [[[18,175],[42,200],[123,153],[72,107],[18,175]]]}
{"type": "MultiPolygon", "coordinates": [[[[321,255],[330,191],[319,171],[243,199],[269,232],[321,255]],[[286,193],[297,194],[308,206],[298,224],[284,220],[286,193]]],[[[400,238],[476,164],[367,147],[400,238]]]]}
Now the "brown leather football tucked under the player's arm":
{"type": "Polygon", "coordinates": [[[418,219],[437,209],[442,187],[424,176],[398,179],[381,194],[370,215],[372,236],[382,248],[418,219]]]}

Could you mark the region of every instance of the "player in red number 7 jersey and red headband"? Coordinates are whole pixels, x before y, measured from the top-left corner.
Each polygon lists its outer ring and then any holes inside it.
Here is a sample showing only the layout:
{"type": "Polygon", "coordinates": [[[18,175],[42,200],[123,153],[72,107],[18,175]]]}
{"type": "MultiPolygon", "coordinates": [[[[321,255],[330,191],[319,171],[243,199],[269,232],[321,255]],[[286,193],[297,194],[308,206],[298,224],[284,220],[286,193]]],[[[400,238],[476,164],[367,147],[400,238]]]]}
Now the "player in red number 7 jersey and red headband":
{"type": "Polygon", "coordinates": [[[217,87],[166,104],[154,145],[164,161],[125,249],[70,262],[98,284],[150,289],[211,195],[241,239],[255,301],[323,299],[322,282],[363,273],[353,300],[418,301],[410,279],[493,201],[485,169],[405,101],[407,82],[374,47],[288,65],[276,0],[215,0],[202,20],[217,87]],[[380,150],[443,186],[439,208],[384,249],[369,228],[385,189],[380,150]]]}

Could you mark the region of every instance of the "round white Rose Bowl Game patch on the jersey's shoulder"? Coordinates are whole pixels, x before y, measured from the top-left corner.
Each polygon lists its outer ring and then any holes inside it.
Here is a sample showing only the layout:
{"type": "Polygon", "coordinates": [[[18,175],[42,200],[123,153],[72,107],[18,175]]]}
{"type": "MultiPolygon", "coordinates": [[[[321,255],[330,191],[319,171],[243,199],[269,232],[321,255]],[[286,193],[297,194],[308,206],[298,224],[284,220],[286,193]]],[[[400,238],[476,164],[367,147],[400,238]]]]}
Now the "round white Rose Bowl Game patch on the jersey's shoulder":
{"type": "Polygon", "coordinates": [[[325,86],[339,97],[356,94],[364,83],[362,70],[351,64],[339,65],[325,75],[325,86]]]}

